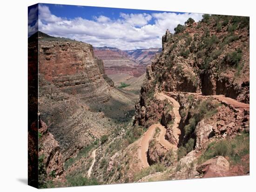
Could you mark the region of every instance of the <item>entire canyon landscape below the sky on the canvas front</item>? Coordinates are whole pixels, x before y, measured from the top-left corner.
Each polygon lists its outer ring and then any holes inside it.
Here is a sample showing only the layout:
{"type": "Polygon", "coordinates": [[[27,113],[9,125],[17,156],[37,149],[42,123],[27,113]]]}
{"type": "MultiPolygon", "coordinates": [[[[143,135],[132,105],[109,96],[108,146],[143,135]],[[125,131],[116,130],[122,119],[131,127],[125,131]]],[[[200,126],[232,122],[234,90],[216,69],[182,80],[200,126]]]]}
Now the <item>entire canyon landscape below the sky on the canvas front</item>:
{"type": "Polygon", "coordinates": [[[166,30],[162,48],[38,38],[48,185],[249,174],[247,17],[189,19],[166,30]]]}

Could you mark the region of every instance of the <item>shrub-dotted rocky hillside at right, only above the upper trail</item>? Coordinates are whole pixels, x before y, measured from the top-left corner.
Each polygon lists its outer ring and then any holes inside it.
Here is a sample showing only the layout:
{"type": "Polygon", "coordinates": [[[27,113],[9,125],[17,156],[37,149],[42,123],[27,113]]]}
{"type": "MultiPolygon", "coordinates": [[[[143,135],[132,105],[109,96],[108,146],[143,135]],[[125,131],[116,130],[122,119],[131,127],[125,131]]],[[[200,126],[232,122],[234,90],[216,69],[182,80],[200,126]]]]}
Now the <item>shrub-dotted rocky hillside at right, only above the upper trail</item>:
{"type": "MultiPolygon", "coordinates": [[[[243,23],[246,19],[238,18],[234,24],[232,17],[212,16],[208,22],[185,26],[182,32],[171,34],[167,30],[162,37],[162,53],[147,67],[136,107],[138,114],[142,106],[146,107],[145,101],[152,100],[155,90],[225,95],[249,103],[249,30],[248,23],[243,23]],[[216,22],[224,19],[229,25],[216,32],[216,22]],[[230,32],[232,25],[241,27],[230,32]]],[[[150,108],[146,107],[146,111],[150,113],[150,108]]]]}

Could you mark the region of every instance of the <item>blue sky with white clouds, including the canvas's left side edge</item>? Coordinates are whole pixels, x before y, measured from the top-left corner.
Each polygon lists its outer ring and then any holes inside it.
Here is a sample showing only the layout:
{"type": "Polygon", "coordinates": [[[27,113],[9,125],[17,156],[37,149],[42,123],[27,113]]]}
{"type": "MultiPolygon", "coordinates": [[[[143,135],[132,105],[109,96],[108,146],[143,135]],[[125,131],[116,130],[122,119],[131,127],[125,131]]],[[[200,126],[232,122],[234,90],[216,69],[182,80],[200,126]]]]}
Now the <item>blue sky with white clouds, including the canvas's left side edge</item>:
{"type": "Polygon", "coordinates": [[[54,37],[71,38],[94,47],[147,49],[162,47],[166,30],[174,33],[174,28],[184,25],[189,17],[197,22],[202,14],[39,4],[28,8],[28,36],[38,29],[54,37]]]}

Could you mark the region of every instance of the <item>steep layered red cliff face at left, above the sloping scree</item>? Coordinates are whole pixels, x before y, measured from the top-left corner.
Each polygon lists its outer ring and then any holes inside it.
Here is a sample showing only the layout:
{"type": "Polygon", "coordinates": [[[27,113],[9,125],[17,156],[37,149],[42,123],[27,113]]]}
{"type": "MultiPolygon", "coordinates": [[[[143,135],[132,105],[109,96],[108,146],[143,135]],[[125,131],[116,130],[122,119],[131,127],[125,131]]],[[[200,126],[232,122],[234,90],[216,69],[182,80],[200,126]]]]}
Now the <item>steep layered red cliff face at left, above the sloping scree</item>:
{"type": "Polygon", "coordinates": [[[84,101],[106,102],[109,86],[92,45],[65,38],[40,38],[39,73],[62,91],[84,101]]]}

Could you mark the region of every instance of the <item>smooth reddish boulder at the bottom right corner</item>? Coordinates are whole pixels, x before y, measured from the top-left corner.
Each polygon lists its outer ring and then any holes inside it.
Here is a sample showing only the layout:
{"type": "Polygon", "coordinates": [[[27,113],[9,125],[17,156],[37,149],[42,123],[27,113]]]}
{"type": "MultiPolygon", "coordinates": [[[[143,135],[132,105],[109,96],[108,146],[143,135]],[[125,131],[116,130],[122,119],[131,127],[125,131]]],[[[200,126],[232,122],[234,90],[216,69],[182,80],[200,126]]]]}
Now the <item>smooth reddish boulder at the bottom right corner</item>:
{"type": "Polygon", "coordinates": [[[196,171],[202,173],[202,178],[229,176],[229,161],[222,156],[216,156],[198,165],[196,171]]]}

